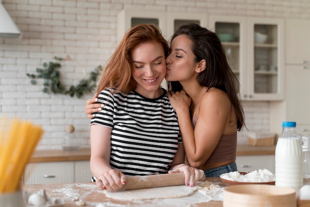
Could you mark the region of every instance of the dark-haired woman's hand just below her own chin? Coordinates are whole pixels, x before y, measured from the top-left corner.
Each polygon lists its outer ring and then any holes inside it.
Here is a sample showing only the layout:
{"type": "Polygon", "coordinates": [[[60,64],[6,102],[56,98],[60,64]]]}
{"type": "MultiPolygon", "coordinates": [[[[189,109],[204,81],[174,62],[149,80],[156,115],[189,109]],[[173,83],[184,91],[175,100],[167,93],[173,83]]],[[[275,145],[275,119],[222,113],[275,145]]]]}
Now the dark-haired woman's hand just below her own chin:
{"type": "Polygon", "coordinates": [[[192,100],[189,96],[187,96],[185,91],[182,90],[180,92],[171,92],[171,94],[167,92],[167,96],[169,98],[170,104],[176,112],[179,110],[189,110],[192,100]]]}

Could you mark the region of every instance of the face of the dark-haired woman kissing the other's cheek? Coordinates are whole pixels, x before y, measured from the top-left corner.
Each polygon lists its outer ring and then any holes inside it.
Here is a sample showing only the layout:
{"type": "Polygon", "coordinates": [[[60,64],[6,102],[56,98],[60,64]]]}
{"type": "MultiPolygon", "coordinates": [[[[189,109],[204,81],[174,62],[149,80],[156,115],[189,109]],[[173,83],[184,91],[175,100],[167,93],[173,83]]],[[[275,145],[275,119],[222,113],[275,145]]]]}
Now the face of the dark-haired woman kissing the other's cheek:
{"type": "Polygon", "coordinates": [[[175,37],[170,46],[170,53],[166,58],[167,81],[185,81],[195,75],[195,55],[191,49],[192,41],[186,35],[175,37]]]}

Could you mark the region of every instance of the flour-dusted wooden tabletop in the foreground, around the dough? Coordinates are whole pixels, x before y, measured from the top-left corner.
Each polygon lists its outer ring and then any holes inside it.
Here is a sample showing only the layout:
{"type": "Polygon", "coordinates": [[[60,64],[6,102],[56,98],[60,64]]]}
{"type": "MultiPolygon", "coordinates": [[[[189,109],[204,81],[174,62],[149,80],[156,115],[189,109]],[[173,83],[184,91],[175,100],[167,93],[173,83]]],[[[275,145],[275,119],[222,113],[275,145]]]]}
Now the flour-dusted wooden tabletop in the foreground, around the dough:
{"type": "MultiPolygon", "coordinates": [[[[219,177],[206,178],[207,181],[214,185],[219,185],[221,188],[225,184],[219,177]]],[[[193,198],[176,198],[176,199],[157,199],[146,201],[119,201],[106,198],[102,190],[99,190],[96,183],[62,183],[62,184],[35,184],[23,185],[22,190],[26,192],[39,192],[40,189],[45,189],[48,197],[62,198],[66,204],[64,207],[79,207],[74,199],[83,200],[87,207],[96,207],[98,204],[117,207],[186,207],[193,202],[193,198]],[[190,202],[190,203],[189,203],[190,202]],[[180,205],[179,205],[180,204],[180,205]]],[[[196,196],[202,196],[199,192],[194,193],[196,196]]],[[[195,195],[192,196],[195,196],[195,195]]],[[[199,200],[201,201],[201,200],[199,200]]],[[[198,202],[197,200],[193,203],[198,202]]],[[[222,201],[209,201],[199,204],[193,204],[191,207],[222,207],[222,201]]]]}

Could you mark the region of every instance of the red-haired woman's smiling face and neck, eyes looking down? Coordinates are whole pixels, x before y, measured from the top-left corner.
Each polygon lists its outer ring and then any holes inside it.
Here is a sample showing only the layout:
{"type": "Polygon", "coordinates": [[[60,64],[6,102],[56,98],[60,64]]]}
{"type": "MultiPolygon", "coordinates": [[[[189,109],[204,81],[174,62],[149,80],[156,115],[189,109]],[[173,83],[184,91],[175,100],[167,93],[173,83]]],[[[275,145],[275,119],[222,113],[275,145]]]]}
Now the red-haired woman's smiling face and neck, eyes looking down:
{"type": "Polygon", "coordinates": [[[156,42],[141,43],[133,49],[131,60],[133,78],[137,82],[135,91],[150,99],[159,97],[162,92],[159,87],[166,75],[162,45],[156,42]]]}

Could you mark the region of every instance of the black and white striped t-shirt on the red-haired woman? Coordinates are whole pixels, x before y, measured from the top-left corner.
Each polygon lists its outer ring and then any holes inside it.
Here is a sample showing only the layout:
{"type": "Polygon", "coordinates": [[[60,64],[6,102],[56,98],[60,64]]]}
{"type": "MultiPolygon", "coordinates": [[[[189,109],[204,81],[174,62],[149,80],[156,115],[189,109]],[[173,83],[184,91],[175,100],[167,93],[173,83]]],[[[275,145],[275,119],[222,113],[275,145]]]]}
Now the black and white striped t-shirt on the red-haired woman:
{"type": "Polygon", "coordinates": [[[166,173],[182,142],[166,92],[148,99],[135,91],[112,94],[106,89],[98,102],[105,106],[91,124],[112,128],[111,167],[129,176],[166,173]]]}

